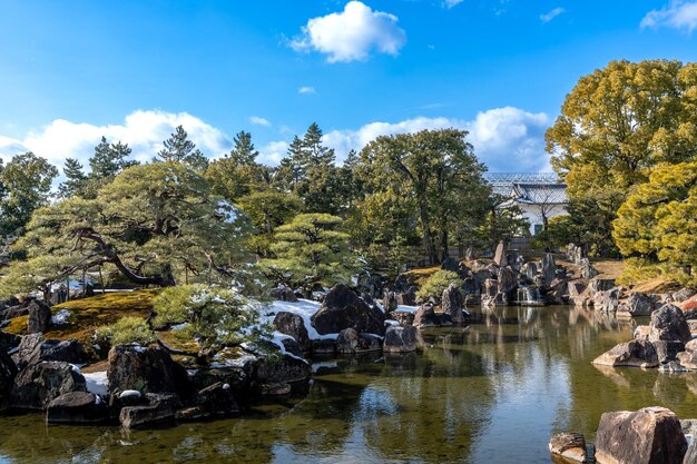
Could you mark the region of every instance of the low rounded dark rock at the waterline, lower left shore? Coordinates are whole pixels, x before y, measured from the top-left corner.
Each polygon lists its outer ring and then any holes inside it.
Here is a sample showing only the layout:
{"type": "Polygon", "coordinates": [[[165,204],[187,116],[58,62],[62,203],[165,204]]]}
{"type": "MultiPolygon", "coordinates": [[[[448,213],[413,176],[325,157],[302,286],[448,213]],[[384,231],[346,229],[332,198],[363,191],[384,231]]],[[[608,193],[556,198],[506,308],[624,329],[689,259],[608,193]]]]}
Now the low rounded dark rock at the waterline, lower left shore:
{"type": "Polygon", "coordinates": [[[70,392],[49,403],[46,421],[49,424],[95,424],[109,418],[105,401],[90,392],[70,392]]]}

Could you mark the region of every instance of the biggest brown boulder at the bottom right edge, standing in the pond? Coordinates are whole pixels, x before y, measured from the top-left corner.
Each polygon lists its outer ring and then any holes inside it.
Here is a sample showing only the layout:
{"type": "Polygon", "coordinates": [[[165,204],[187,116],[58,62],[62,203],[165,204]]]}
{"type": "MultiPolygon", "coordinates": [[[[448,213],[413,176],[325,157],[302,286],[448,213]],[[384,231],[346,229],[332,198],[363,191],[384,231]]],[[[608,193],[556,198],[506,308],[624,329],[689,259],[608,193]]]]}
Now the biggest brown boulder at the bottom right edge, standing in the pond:
{"type": "Polygon", "coordinates": [[[678,417],[664,407],[600,417],[596,436],[599,464],[681,464],[687,442],[678,417]]]}

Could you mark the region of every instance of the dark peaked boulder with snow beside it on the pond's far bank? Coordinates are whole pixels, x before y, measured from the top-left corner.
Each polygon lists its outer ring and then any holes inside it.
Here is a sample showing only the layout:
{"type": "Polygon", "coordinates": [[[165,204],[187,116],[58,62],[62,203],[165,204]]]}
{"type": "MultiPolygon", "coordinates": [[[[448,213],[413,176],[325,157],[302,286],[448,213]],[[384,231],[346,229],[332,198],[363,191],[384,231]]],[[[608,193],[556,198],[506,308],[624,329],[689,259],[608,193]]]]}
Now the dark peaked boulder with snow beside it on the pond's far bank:
{"type": "Polygon", "coordinates": [[[344,328],[359,333],[383,335],[385,314],[371,307],[344,284],[326,294],[320,310],[312,316],[312,325],[320,334],[338,334],[344,328]]]}

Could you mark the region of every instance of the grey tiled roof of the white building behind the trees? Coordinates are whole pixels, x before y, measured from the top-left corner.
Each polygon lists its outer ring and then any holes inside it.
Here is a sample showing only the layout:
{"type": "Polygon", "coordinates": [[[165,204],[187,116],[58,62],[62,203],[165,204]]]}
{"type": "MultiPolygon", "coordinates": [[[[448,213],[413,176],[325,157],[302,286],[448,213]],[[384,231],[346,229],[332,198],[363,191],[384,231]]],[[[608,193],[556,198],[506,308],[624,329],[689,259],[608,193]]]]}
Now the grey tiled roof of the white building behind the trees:
{"type": "Polygon", "coordinates": [[[494,194],[528,205],[568,203],[567,185],[554,172],[487,172],[494,194]]]}

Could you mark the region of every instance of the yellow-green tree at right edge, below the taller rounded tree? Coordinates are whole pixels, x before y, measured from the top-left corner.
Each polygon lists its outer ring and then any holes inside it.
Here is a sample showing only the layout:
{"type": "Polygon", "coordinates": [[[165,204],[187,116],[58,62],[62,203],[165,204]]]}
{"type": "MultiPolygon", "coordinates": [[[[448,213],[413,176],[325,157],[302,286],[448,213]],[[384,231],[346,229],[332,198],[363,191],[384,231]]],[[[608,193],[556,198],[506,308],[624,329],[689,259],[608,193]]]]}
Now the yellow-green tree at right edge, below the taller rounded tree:
{"type": "Polygon", "coordinates": [[[697,285],[697,162],[660,165],[619,208],[612,235],[636,267],[654,268],[681,285],[697,285]]]}

